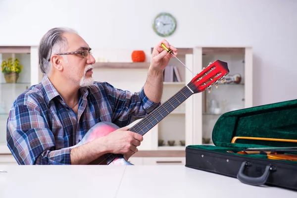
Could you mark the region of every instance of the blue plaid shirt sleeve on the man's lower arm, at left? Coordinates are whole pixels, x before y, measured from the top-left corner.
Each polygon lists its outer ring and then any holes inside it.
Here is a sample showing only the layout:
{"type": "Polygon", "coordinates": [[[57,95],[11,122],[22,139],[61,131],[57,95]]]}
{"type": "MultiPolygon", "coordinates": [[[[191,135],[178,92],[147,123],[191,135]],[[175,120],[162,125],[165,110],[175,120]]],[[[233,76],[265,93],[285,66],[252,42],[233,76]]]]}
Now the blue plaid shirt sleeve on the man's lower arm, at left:
{"type": "Polygon", "coordinates": [[[7,119],[6,137],[18,164],[70,164],[70,148],[53,150],[54,136],[36,108],[14,106],[7,119]]]}

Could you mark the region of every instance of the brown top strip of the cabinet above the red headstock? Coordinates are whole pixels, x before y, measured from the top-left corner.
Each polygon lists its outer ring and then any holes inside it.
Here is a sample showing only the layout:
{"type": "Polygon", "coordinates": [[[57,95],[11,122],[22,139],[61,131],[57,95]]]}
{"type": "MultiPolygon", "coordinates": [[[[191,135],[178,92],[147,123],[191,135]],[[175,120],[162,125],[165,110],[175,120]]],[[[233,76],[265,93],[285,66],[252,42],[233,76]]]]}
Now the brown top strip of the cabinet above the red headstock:
{"type": "Polygon", "coordinates": [[[245,54],[245,48],[202,48],[202,55],[245,54]]]}

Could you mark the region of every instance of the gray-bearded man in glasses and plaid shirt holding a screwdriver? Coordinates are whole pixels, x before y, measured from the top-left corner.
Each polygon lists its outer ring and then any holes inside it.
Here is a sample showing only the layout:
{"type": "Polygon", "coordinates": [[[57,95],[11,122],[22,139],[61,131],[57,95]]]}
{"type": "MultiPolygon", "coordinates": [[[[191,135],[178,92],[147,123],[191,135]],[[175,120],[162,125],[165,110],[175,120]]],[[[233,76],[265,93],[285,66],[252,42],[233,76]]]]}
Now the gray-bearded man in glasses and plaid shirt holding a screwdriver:
{"type": "Polygon", "coordinates": [[[49,30],[38,49],[45,76],[14,101],[7,120],[7,145],[18,164],[89,164],[106,153],[121,153],[128,159],[137,152],[143,136],[126,126],[159,105],[162,71],[171,58],[161,43],[177,54],[166,40],[157,44],[144,87],[131,93],[94,82],[95,58],[75,31],[49,30]],[[120,128],[73,147],[102,121],[120,128]]]}

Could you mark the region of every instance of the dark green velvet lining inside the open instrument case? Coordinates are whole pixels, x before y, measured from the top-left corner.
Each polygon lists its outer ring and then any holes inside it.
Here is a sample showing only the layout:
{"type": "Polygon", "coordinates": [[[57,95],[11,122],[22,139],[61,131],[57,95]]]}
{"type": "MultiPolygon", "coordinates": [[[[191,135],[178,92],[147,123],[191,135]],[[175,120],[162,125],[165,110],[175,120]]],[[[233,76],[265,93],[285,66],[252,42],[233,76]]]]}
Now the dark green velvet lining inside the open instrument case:
{"type": "MultiPolygon", "coordinates": [[[[297,147],[297,143],[244,139],[231,143],[232,138],[237,136],[297,140],[297,99],[227,112],[221,115],[214,125],[212,141],[215,146],[188,147],[225,153],[227,150],[237,152],[245,148],[297,147]]],[[[248,154],[248,156],[267,158],[264,154],[248,154]]],[[[297,163],[297,161],[288,162],[297,163]]]]}

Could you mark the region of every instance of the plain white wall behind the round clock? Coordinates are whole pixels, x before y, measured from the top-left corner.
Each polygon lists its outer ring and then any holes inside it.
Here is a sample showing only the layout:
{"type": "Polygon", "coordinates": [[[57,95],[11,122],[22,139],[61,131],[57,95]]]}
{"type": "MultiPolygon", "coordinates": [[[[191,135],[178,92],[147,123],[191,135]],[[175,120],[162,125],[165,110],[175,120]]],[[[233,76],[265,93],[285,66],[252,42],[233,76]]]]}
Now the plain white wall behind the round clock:
{"type": "Polygon", "coordinates": [[[49,28],[76,29],[94,49],[149,49],[171,12],[179,48],[253,48],[254,105],[296,99],[296,0],[0,0],[0,46],[36,46],[49,28]]]}

